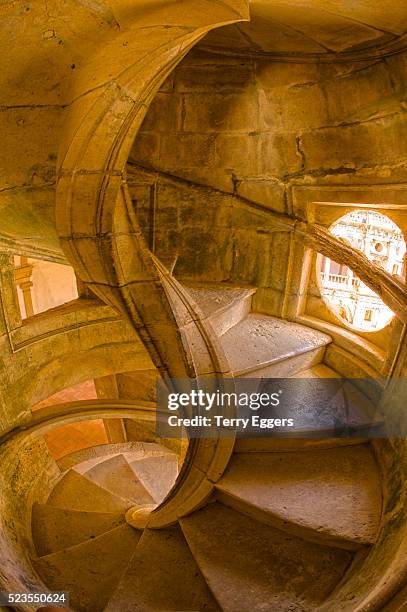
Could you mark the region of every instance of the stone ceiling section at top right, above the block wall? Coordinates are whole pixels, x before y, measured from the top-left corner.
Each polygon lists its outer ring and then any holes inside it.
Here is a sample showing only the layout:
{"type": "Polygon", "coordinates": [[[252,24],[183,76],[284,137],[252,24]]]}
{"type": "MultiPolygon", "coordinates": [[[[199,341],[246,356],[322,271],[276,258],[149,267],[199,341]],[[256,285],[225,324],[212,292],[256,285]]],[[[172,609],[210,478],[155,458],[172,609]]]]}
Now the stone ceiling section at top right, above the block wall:
{"type": "Polygon", "coordinates": [[[253,0],[250,23],[207,36],[205,45],[293,56],[391,51],[405,44],[404,0],[253,0]]]}

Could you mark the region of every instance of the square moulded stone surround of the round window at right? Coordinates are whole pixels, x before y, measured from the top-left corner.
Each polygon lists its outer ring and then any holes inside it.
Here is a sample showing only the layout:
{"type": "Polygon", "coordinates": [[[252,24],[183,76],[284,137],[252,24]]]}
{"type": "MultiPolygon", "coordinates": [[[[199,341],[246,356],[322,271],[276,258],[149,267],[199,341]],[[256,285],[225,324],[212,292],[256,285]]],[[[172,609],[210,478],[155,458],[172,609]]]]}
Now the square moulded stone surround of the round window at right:
{"type": "MultiPolygon", "coordinates": [[[[386,271],[405,282],[405,258],[402,258],[407,237],[407,188],[405,186],[294,185],[290,205],[297,218],[308,223],[315,223],[328,230],[342,217],[356,211],[363,211],[365,214],[367,211],[371,211],[371,214],[380,213],[390,219],[401,230],[402,241],[398,244],[398,253],[396,245],[397,258],[392,265],[391,258],[389,258],[389,267],[386,268],[386,271]]],[[[382,238],[385,237],[382,236],[382,238]]],[[[357,244],[353,246],[360,248],[357,244]]],[[[383,259],[386,253],[388,253],[386,240],[376,240],[371,244],[369,254],[375,263],[383,259]],[[377,244],[380,246],[377,247],[377,244]]],[[[361,282],[352,273],[348,274],[345,266],[341,267],[336,262],[331,264],[329,260],[327,261],[312,249],[299,246],[293,278],[297,280],[295,271],[301,270],[301,291],[298,292],[295,299],[292,299],[288,317],[293,321],[328,333],[334,339],[337,350],[339,350],[338,347],[346,349],[349,358],[352,358],[352,354],[357,354],[369,364],[372,371],[387,372],[392,367],[399,346],[403,328],[401,322],[391,314],[388,324],[381,329],[377,325],[374,329],[366,331],[364,327],[356,329],[352,324],[349,325],[348,321],[352,318],[352,312],[349,312],[346,305],[342,304],[341,309],[334,310],[329,307],[322,295],[323,287],[321,287],[319,273],[324,271],[324,266],[326,266],[325,271],[329,274],[345,277],[336,279],[338,281],[351,282],[354,285],[361,282]],[[351,281],[349,281],[349,276],[352,278],[351,281]]],[[[293,284],[291,286],[294,287],[293,284]]],[[[292,288],[291,291],[293,292],[294,289],[292,288]]],[[[377,316],[374,307],[366,306],[365,311],[362,310],[361,314],[362,325],[371,325],[375,318],[377,321],[377,316]],[[366,314],[367,310],[371,310],[371,314],[366,314]]],[[[332,351],[333,348],[330,350],[332,351]]]]}

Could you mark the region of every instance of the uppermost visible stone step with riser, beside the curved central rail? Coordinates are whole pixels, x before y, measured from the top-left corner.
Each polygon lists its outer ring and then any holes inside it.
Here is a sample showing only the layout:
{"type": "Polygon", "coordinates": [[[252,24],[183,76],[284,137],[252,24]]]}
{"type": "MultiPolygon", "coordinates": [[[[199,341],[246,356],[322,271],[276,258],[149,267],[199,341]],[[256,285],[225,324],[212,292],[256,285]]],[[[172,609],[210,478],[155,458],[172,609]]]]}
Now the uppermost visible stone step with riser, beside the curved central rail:
{"type": "Polygon", "coordinates": [[[208,317],[218,336],[242,321],[250,312],[254,288],[219,284],[185,285],[195,302],[208,317]]]}

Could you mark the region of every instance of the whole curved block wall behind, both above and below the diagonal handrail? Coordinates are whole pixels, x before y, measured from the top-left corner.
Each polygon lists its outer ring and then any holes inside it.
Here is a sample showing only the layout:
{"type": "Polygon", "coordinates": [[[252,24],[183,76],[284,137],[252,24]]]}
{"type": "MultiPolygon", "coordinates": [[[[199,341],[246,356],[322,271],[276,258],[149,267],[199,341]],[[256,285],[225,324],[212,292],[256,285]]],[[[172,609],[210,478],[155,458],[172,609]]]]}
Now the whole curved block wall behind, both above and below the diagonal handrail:
{"type": "MultiPolygon", "coordinates": [[[[329,187],[342,202],[339,188],[402,185],[406,72],[403,54],[318,65],[192,51],[153,100],[130,156],[150,248],[169,264],[178,257],[181,279],[258,287],[256,310],[282,316],[290,266],[301,266],[267,210],[298,212],[298,186],[329,187]]],[[[314,311],[337,324],[311,276],[314,311]]],[[[364,336],[386,352],[393,328],[364,336]]]]}

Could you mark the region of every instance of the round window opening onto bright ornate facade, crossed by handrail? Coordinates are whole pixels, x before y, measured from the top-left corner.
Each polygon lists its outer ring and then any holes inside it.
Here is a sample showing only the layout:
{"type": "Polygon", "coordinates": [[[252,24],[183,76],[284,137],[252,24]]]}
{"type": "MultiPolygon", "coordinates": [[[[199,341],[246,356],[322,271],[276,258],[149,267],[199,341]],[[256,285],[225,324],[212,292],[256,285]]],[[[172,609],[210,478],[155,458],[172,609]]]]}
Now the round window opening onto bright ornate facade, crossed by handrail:
{"type": "MultiPolygon", "coordinates": [[[[390,274],[404,273],[403,234],[386,215],[373,210],[355,210],[336,221],[330,231],[390,274]]],[[[369,332],[389,324],[394,313],[347,266],[320,256],[317,271],[322,298],[345,325],[369,332]]]]}

